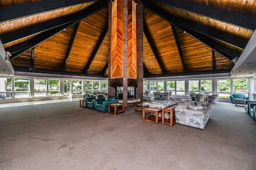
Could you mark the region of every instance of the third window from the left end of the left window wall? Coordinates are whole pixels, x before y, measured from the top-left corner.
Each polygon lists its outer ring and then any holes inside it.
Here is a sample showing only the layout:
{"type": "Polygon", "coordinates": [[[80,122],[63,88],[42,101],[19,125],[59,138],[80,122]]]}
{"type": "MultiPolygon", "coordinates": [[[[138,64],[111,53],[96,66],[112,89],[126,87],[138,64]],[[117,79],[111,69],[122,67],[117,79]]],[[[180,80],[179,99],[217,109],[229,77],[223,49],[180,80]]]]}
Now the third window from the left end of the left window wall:
{"type": "Polygon", "coordinates": [[[34,79],[34,97],[46,97],[46,79],[34,79]]]}

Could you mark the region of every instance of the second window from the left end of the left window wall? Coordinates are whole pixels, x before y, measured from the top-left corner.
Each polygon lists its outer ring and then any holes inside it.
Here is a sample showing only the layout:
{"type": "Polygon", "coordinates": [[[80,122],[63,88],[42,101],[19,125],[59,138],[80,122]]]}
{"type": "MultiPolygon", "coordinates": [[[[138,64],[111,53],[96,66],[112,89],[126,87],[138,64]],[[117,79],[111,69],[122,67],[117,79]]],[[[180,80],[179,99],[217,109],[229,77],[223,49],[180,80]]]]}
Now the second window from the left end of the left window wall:
{"type": "Polygon", "coordinates": [[[29,98],[29,79],[15,78],[14,91],[14,98],[29,98]]]}

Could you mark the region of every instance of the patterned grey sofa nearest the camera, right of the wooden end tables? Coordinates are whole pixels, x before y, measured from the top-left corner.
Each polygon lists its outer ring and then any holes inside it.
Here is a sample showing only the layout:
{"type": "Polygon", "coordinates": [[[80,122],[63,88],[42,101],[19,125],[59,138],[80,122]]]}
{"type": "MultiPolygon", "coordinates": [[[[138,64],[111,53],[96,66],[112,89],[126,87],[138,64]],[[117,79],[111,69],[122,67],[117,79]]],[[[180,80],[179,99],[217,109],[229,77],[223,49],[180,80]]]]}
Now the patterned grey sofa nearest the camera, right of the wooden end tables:
{"type": "Polygon", "coordinates": [[[211,116],[211,104],[183,100],[175,107],[176,123],[204,129],[211,116]]]}

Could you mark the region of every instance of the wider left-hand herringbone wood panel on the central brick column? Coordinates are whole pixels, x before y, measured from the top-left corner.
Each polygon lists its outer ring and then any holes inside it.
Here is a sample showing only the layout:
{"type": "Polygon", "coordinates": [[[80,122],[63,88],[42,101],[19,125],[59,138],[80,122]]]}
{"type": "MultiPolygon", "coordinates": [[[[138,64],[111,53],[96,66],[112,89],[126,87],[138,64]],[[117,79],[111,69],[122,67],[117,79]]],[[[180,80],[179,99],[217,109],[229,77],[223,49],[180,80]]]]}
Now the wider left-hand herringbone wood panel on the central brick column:
{"type": "Polygon", "coordinates": [[[123,77],[123,0],[112,3],[110,78],[123,77]]]}

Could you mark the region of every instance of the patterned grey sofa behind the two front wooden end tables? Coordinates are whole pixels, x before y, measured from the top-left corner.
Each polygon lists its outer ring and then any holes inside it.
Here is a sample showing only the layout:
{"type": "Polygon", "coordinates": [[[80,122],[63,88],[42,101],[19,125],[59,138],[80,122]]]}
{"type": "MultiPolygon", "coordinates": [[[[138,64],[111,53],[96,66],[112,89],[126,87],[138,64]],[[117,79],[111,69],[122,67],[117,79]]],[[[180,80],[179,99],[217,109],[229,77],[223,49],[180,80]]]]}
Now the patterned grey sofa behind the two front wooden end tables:
{"type": "MultiPolygon", "coordinates": [[[[152,103],[148,103],[149,107],[154,107],[154,108],[159,108],[159,109],[163,109],[165,107],[169,107],[169,106],[174,106],[176,104],[178,104],[179,102],[181,102],[182,100],[180,98],[175,98],[175,99],[169,99],[167,100],[164,104],[158,103],[158,102],[152,102],[152,103]]],[[[155,113],[150,113],[152,116],[156,116],[155,113]]],[[[158,113],[158,117],[161,117],[161,113],[158,113]]],[[[170,113],[169,112],[164,112],[164,119],[169,119],[170,118],[170,113]]]]}

